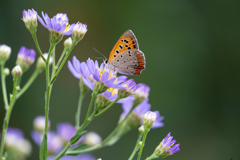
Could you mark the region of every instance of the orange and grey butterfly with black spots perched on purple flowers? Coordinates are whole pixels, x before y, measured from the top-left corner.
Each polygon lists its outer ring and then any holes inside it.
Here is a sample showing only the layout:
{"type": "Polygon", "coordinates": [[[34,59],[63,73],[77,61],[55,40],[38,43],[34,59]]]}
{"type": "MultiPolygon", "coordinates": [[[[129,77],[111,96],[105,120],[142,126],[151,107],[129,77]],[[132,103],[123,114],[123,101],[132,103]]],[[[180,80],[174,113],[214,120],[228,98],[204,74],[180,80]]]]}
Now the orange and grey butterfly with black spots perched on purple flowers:
{"type": "Polygon", "coordinates": [[[139,75],[145,69],[145,56],[131,30],[119,38],[104,64],[106,68],[126,75],[139,75]]]}

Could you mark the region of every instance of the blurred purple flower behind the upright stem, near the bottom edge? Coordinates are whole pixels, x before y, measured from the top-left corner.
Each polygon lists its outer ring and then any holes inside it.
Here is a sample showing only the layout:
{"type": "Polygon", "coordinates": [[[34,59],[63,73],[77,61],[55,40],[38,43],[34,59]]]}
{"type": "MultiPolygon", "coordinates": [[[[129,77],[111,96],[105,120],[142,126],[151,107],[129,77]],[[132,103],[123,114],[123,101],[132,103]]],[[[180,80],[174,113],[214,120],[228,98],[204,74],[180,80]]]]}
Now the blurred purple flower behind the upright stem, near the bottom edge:
{"type": "MultiPolygon", "coordinates": [[[[31,132],[32,139],[37,145],[41,145],[42,139],[43,139],[43,134],[37,132],[37,131],[32,131],[31,132]]],[[[62,149],[62,139],[60,136],[58,136],[55,132],[48,132],[47,136],[47,147],[48,147],[48,152],[49,154],[57,154],[58,152],[61,151],[62,149]]]]}

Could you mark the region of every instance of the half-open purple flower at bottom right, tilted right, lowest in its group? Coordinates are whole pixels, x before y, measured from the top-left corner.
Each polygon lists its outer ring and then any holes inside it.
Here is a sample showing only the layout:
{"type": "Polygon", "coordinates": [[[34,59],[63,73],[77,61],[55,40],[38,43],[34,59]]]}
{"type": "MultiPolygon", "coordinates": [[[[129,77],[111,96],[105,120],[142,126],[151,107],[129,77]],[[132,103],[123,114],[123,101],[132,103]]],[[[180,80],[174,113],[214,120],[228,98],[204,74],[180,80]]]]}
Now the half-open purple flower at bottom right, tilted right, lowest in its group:
{"type": "Polygon", "coordinates": [[[178,151],[180,151],[179,146],[180,144],[176,144],[175,140],[172,140],[173,137],[168,133],[168,135],[162,140],[162,142],[157,146],[155,149],[152,157],[161,157],[165,158],[169,155],[172,155],[178,151]]]}

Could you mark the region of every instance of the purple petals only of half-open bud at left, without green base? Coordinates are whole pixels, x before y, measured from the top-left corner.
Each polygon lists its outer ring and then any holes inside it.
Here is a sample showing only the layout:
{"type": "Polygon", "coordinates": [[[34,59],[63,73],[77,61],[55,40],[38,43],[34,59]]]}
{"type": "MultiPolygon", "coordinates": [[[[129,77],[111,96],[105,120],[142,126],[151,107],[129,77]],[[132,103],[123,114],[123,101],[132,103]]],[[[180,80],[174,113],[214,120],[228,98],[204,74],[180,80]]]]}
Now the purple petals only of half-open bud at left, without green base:
{"type": "Polygon", "coordinates": [[[36,52],[33,49],[27,49],[24,46],[22,46],[18,52],[18,59],[24,60],[31,64],[34,62],[35,56],[36,52]]]}

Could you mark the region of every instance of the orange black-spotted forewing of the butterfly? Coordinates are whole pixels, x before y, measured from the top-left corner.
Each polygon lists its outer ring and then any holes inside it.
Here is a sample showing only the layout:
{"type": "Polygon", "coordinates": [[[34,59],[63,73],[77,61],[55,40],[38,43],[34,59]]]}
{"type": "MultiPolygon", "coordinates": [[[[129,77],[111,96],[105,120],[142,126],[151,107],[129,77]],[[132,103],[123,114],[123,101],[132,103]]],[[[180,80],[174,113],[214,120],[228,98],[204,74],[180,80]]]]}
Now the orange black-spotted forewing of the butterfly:
{"type": "Polygon", "coordinates": [[[119,38],[115,46],[108,57],[108,63],[110,63],[119,53],[127,51],[129,49],[138,49],[137,38],[133,34],[131,30],[127,30],[123,33],[123,35],[119,38]]]}

